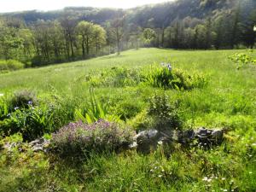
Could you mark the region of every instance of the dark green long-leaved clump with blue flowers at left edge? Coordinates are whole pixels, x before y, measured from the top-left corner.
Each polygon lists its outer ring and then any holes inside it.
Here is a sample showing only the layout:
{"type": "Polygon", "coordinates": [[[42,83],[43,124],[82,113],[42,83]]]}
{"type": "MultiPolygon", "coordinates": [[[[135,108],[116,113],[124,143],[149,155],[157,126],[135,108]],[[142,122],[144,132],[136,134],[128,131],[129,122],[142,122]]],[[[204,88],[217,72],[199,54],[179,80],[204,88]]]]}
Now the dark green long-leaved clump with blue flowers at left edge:
{"type": "Polygon", "coordinates": [[[53,132],[52,117],[53,108],[40,106],[28,108],[16,108],[15,112],[9,113],[9,118],[0,122],[0,130],[5,135],[20,132],[26,141],[32,141],[42,137],[44,133],[53,132]]]}

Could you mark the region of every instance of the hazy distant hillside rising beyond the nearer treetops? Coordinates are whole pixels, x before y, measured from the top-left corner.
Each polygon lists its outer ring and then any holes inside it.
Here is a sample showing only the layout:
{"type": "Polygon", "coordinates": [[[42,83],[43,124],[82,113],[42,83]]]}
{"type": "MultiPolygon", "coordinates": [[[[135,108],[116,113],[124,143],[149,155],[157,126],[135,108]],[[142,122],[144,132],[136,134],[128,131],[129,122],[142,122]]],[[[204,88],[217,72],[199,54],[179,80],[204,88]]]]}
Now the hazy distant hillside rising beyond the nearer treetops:
{"type": "Polygon", "coordinates": [[[70,7],[56,11],[24,11],[2,14],[25,20],[27,24],[37,20],[56,20],[63,15],[72,15],[78,20],[90,20],[102,24],[116,17],[126,16],[129,23],[148,27],[170,25],[173,20],[186,17],[203,19],[210,15],[234,8],[239,0],[177,0],[175,2],[146,5],[134,9],[97,9],[90,7],[70,7]]]}

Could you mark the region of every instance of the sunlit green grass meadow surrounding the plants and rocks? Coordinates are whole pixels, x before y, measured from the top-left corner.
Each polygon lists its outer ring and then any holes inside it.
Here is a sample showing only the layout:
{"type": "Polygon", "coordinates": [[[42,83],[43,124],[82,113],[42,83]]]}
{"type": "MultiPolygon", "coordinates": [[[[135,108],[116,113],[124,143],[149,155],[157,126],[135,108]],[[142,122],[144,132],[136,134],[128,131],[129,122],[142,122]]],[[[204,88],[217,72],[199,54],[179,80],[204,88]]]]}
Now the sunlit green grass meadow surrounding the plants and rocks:
{"type": "MultiPolygon", "coordinates": [[[[2,150],[0,191],[255,191],[256,67],[237,70],[228,57],[240,52],[247,50],[131,49],[121,55],[0,73],[4,100],[16,90],[32,90],[42,108],[49,103],[58,106],[55,129],[75,120],[74,110],[86,108],[94,87],[96,99],[108,103],[108,113],[131,126],[147,108],[148,98],[165,92],[169,102],[178,103],[184,130],[201,126],[227,130],[221,146],[204,150],[177,144],[168,156],[160,146],[148,155],[93,154],[77,163],[30,149],[16,148],[11,155],[2,150]],[[113,67],[143,70],[161,62],[202,74],[207,86],[164,90],[147,84],[92,86],[85,80],[113,67]]],[[[2,140],[22,139],[16,134],[2,140]]]]}

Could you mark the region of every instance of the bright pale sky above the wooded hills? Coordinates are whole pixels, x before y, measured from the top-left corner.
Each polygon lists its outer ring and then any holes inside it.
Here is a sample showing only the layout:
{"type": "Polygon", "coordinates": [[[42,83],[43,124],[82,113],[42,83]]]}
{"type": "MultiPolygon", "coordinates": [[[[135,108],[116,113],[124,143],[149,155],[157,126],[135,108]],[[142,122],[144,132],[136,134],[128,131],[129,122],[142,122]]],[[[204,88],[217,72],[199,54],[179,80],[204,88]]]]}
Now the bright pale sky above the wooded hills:
{"type": "Polygon", "coordinates": [[[20,10],[55,10],[68,6],[92,6],[108,8],[132,8],[148,3],[172,0],[0,0],[0,12],[20,10]]]}

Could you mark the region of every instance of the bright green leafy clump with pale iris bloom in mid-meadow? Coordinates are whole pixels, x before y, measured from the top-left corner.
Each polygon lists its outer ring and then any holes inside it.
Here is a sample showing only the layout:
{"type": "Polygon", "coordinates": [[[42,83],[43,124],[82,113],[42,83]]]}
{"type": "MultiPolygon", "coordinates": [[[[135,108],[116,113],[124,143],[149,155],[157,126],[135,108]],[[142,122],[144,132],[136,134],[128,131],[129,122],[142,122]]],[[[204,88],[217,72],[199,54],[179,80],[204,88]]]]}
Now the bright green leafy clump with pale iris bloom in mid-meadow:
{"type": "Polygon", "coordinates": [[[142,73],[143,82],[153,87],[177,90],[192,90],[207,85],[207,78],[199,73],[172,69],[171,65],[152,66],[142,73]]]}

